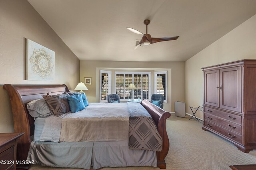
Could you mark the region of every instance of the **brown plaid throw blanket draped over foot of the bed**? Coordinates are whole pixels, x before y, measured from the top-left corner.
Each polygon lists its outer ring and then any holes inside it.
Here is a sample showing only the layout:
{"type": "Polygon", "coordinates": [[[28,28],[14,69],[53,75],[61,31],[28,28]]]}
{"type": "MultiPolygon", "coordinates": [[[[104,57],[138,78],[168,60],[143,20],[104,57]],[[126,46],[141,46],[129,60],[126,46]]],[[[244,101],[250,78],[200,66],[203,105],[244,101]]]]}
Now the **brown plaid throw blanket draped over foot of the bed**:
{"type": "Polygon", "coordinates": [[[127,103],[129,119],[129,148],[134,150],[162,150],[162,138],[150,114],[140,103],[127,103]]]}

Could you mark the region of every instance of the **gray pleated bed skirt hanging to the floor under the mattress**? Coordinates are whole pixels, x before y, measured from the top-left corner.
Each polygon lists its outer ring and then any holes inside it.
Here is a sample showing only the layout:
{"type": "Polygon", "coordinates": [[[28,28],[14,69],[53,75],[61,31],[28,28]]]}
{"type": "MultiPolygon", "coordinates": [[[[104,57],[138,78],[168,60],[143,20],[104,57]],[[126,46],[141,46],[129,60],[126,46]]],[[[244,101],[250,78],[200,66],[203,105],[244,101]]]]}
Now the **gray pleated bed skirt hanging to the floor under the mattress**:
{"type": "Polygon", "coordinates": [[[38,142],[30,145],[27,160],[52,167],[83,168],[157,166],[156,152],[131,150],[128,141],[38,142]]]}

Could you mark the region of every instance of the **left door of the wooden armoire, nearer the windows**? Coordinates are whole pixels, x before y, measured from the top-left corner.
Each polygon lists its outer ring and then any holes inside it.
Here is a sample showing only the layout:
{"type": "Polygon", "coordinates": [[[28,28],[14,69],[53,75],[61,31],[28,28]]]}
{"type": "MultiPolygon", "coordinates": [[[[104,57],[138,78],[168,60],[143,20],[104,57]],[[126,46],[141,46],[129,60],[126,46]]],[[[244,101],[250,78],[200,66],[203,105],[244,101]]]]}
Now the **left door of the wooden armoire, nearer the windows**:
{"type": "Polygon", "coordinates": [[[219,107],[219,70],[204,72],[204,104],[219,107]]]}

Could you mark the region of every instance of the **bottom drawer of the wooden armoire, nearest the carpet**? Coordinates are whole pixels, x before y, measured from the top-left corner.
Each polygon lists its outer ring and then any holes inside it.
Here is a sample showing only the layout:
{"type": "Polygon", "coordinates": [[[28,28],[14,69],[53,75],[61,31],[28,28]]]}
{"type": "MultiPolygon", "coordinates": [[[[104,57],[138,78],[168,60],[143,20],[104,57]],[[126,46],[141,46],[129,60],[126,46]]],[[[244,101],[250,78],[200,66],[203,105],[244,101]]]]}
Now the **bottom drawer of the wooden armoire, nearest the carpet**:
{"type": "Polygon", "coordinates": [[[216,132],[219,132],[220,134],[230,138],[231,140],[242,143],[242,135],[240,135],[232,130],[228,130],[226,128],[223,128],[219,125],[216,125],[215,123],[208,122],[206,120],[204,120],[204,126],[211,128],[212,130],[215,130],[216,132]]]}

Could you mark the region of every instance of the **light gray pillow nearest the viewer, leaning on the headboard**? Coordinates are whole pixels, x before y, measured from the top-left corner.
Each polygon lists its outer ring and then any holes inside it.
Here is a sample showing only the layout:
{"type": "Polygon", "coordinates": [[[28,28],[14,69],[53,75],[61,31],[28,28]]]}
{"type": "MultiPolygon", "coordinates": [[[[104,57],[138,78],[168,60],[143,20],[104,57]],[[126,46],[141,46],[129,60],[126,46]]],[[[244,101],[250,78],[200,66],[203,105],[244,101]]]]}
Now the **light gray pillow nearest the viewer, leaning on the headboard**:
{"type": "Polygon", "coordinates": [[[37,99],[27,104],[28,112],[32,117],[48,117],[52,111],[44,99],[37,99]]]}

